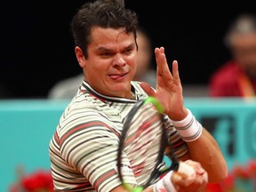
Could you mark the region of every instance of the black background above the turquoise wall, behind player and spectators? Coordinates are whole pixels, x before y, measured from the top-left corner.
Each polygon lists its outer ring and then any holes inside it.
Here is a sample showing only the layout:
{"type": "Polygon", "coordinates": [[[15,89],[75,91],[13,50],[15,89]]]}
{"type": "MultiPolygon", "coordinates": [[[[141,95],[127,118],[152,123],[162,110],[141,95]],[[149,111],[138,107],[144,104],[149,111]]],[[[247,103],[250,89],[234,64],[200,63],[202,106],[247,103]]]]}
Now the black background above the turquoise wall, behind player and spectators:
{"type": "MultiPolygon", "coordinates": [[[[1,1],[0,98],[44,99],[53,84],[81,72],[70,22],[84,2],[1,1]]],[[[179,61],[182,84],[188,85],[208,84],[230,57],[223,44],[228,25],[240,13],[255,12],[247,2],[229,4],[229,10],[211,2],[200,8],[166,0],[125,3],[139,14],[154,47],[165,47],[169,64],[179,61]]]]}

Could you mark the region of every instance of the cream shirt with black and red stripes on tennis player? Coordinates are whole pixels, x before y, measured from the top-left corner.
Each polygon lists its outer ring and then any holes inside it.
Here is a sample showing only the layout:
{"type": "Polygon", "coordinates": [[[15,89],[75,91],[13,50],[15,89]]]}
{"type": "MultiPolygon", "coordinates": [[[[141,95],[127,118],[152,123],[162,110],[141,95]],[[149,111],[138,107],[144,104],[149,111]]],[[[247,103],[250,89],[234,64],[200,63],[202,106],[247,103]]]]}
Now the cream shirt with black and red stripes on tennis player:
{"type": "MultiPolygon", "coordinates": [[[[132,92],[136,100],[148,97],[139,82],[132,82],[132,92]]],[[[117,150],[124,120],[136,100],[109,97],[86,82],[81,84],[60,116],[49,145],[55,191],[108,192],[121,185],[116,170],[117,150]]],[[[164,124],[176,156],[187,154],[186,143],[169,119],[164,124]]],[[[132,120],[122,154],[123,177],[132,186],[148,180],[156,165],[156,142],[160,137],[156,127],[160,126],[156,114],[146,105],[132,120]]]]}

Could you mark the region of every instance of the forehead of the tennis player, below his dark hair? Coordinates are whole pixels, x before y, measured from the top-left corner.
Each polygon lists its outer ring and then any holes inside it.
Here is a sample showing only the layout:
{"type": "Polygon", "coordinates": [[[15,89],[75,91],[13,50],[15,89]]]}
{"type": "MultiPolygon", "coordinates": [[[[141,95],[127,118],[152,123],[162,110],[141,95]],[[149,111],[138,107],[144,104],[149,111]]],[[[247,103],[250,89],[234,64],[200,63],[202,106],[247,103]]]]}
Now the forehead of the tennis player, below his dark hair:
{"type": "Polygon", "coordinates": [[[125,33],[124,28],[93,28],[91,34],[91,44],[131,44],[134,42],[132,33],[125,33]]]}

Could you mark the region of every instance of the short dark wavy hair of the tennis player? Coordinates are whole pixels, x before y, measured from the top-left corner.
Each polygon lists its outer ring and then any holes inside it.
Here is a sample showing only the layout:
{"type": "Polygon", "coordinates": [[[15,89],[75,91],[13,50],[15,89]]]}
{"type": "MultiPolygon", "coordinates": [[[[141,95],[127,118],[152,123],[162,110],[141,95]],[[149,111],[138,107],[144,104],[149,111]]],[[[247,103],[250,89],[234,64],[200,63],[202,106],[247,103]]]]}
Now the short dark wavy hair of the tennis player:
{"type": "Polygon", "coordinates": [[[124,0],[96,0],[83,4],[73,17],[71,30],[75,44],[82,49],[85,59],[88,57],[92,28],[95,27],[124,28],[127,34],[133,33],[136,40],[138,16],[125,8],[124,0]]]}

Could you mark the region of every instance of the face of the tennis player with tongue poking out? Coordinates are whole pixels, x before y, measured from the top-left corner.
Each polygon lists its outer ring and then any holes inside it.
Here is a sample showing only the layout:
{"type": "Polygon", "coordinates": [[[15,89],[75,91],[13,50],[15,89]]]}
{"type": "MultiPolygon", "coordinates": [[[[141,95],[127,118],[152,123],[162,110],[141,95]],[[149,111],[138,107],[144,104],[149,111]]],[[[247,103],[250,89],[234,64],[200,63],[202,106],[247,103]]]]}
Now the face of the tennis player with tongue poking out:
{"type": "Polygon", "coordinates": [[[124,28],[93,28],[85,60],[85,80],[103,94],[130,97],[136,69],[136,44],[124,28]]]}

